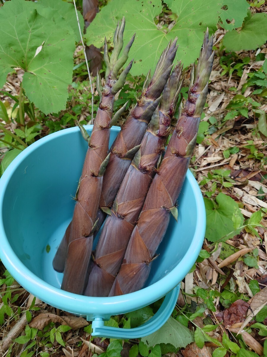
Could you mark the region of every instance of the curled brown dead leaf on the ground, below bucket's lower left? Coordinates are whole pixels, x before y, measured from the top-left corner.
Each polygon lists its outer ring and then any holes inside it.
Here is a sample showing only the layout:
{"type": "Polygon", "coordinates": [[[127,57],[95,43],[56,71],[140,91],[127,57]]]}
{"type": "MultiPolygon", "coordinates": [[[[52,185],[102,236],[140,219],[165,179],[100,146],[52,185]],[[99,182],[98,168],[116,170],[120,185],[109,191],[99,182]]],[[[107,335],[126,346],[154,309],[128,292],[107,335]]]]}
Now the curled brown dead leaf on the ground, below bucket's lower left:
{"type": "Polygon", "coordinates": [[[83,317],[58,316],[52,313],[41,313],[36,316],[29,325],[30,327],[38,328],[38,330],[43,330],[43,328],[45,328],[50,322],[59,323],[60,325],[68,325],[73,328],[73,330],[89,325],[83,317]]]}

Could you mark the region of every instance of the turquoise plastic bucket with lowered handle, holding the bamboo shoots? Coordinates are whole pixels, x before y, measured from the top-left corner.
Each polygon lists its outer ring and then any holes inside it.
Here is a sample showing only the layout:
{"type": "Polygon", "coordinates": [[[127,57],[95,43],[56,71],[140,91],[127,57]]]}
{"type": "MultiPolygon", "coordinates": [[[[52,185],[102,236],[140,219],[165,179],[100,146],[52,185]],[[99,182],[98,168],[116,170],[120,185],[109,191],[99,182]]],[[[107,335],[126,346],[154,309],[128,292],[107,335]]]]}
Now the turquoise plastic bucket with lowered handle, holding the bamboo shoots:
{"type": "MultiPolygon", "coordinates": [[[[90,134],[92,126],[85,128],[90,134]]],[[[119,130],[111,128],[110,143],[119,130]]],[[[142,290],[116,297],[88,297],[63,291],[63,274],[53,270],[52,260],[72,218],[72,196],[87,147],[78,127],[74,127],[38,140],[12,161],[0,179],[0,258],[27,291],[49,305],[93,321],[93,336],[147,336],[171,315],[179,283],[198,257],[205,233],[203,198],[188,171],[179,197],[178,223],[171,219],[142,290]],[[137,310],[163,296],[161,307],[144,325],[130,329],[104,326],[104,320],[111,315],[137,310]]]]}

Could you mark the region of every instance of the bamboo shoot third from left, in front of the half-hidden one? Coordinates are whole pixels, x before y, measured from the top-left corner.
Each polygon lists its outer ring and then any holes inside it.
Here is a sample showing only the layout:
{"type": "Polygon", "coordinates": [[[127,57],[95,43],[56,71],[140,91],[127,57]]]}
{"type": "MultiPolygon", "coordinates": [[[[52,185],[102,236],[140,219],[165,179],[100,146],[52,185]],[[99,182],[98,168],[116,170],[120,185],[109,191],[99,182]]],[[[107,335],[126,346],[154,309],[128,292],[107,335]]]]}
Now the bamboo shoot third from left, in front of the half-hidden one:
{"type": "Polygon", "coordinates": [[[153,113],[140,149],[122,180],[91,262],[85,295],[108,296],[110,292],[169,135],[182,85],[179,85],[181,72],[179,63],[164,87],[161,104],[153,113]]]}

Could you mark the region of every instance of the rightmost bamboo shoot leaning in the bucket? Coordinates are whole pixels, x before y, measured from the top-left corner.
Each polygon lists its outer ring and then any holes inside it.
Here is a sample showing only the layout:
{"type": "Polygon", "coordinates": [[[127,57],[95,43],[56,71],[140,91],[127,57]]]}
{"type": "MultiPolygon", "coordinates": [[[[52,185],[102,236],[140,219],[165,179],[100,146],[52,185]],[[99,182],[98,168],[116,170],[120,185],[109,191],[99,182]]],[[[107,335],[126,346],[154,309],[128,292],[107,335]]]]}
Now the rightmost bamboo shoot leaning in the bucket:
{"type": "Polygon", "coordinates": [[[209,40],[207,30],[195,76],[194,68],[191,71],[187,102],[177,121],[159,171],[148,190],[109,296],[127,294],[143,287],[171,214],[177,220],[176,202],[195,147],[200,116],[208,92],[214,57],[212,46],[213,39],[209,40]]]}

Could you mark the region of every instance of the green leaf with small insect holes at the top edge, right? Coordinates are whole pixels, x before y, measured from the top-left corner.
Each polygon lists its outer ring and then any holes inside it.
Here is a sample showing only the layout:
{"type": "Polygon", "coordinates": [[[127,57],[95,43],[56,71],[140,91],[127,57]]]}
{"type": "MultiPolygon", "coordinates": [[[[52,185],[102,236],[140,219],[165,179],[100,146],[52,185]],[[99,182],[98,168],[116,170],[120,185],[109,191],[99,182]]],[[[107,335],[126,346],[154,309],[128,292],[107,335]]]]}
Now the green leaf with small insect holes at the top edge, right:
{"type": "Polygon", "coordinates": [[[225,30],[236,29],[236,27],[242,26],[242,23],[247,15],[247,9],[250,6],[246,0],[224,0],[226,5],[225,10],[221,12],[221,26],[225,30]],[[229,20],[228,24],[226,20],[229,20]]]}

